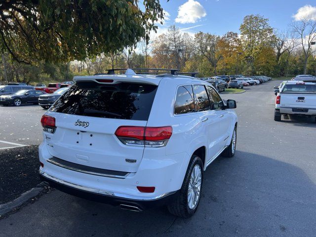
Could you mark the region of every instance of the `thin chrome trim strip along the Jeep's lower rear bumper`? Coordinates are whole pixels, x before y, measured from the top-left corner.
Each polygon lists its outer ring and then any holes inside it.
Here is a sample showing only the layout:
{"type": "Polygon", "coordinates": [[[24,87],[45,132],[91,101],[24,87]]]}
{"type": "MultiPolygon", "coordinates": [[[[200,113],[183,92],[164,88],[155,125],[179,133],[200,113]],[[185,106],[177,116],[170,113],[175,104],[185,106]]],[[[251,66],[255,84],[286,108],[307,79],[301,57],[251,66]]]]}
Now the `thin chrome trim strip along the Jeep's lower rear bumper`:
{"type": "Polygon", "coordinates": [[[101,194],[101,195],[105,195],[105,196],[110,196],[110,197],[120,197],[120,198],[125,198],[125,199],[130,199],[130,200],[157,200],[159,198],[162,197],[167,197],[171,194],[176,193],[176,191],[174,192],[168,192],[165,194],[161,194],[158,196],[154,196],[154,197],[141,197],[141,196],[133,196],[133,195],[128,195],[128,194],[122,194],[122,193],[117,193],[117,192],[111,192],[111,191],[107,191],[107,190],[100,190],[100,189],[94,189],[94,188],[89,188],[89,187],[85,187],[85,186],[81,186],[78,184],[73,184],[58,178],[55,178],[49,174],[46,174],[45,172],[39,170],[40,175],[42,175],[43,177],[50,179],[54,182],[57,182],[59,184],[65,185],[65,186],[69,186],[71,188],[75,188],[75,189],[79,189],[82,191],[86,191],[86,192],[91,192],[91,193],[95,193],[95,194],[101,194]]]}

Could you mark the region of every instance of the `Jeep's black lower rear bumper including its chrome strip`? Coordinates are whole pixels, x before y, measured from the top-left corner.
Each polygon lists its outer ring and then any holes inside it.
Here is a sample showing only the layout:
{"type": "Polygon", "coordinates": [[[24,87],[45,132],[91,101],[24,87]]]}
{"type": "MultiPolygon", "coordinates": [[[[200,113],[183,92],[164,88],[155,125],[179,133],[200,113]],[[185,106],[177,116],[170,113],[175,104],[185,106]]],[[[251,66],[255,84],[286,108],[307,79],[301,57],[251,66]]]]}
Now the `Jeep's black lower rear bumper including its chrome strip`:
{"type": "Polygon", "coordinates": [[[163,195],[156,197],[137,197],[130,196],[121,193],[115,193],[107,190],[99,190],[84,186],[79,186],[72,184],[58,178],[55,178],[51,175],[39,171],[40,180],[44,182],[45,185],[48,185],[52,188],[58,189],[64,193],[74,195],[76,197],[85,198],[92,201],[102,202],[118,206],[121,204],[136,206],[139,210],[150,209],[154,207],[159,207],[166,205],[173,200],[178,194],[179,191],[169,192],[163,195]]]}

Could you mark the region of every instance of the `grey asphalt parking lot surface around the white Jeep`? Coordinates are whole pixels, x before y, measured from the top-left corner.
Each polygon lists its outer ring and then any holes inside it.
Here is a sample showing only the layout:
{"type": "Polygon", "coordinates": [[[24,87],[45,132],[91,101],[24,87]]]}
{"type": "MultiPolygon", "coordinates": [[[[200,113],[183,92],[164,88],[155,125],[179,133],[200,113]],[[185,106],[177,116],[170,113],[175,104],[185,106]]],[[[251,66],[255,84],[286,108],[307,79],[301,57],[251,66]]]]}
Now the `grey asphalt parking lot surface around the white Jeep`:
{"type": "MultiPolygon", "coordinates": [[[[53,191],[0,220],[0,237],[315,236],[316,123],[299,117],[274,121],[278,83],[222,94],[237,101],[237,152],[208,166],[191,219],[165,208],[130,212],[53,191]]],[[[39,144],[43,113],[35,106],[0,107],[0,140],[39,144]]]]}

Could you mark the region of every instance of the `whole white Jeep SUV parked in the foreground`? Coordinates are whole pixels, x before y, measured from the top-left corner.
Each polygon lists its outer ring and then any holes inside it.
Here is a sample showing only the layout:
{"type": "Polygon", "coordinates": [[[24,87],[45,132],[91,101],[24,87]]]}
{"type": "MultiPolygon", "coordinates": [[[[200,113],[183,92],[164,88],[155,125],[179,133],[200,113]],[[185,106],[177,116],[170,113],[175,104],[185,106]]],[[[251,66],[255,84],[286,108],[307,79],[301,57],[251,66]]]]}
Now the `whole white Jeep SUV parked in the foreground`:
{"type": "Polygon", "coordinates": [[[203,171],[235,154],[236,102],[188,76],[128,69],[74,81],[41,118],[45,184],[123,209],[193,215],[203,171]]]}

